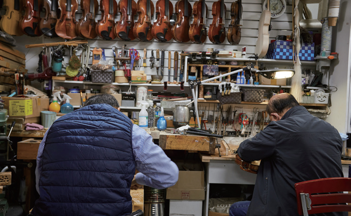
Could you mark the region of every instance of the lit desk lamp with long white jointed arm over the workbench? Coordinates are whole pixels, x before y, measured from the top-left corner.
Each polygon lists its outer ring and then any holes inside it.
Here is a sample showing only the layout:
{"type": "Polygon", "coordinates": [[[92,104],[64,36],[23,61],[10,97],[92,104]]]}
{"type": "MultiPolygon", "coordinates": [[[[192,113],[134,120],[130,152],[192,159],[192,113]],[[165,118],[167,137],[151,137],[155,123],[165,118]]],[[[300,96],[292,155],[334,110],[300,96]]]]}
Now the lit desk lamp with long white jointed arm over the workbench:
{"type": "Polygon", "coordinates": [[[295,70],[293,69],[269,69],[269,70],[258,70],[256,68],[254,68],[253,64],[248,64],[245,67],[241,68],[241,69],[237,69],[234,71],[230,71],[227,74],[222,74],[222,75],[218,75],[216,77],[207,79],[207,80],[202,80],[202,81],[194,81],[191,80],[189,81],[189,85],[190,88],[192,89],[192,94],[193,94],[193,99],[194,99],[194,105],[195,105],[195,114],[196,114],[196,121],[198,123],[198,127],[200,127],[200,119],[199,119],[199,111],[198,111],[198,97],[195,94],[195,86],[200,85],[202,83],[206,83],[212,80],[216,80],[218,78],[221,77],[227,77],[229,75],[232,74],[237,74],[240,73],[243,70],[249,70],[250,73],[254,72],[256,74],[262,75],[263,77],[267,78],[267,79],[283,79],[283,78],[291,78],[294,76],[295,74],[295,70]]]}

